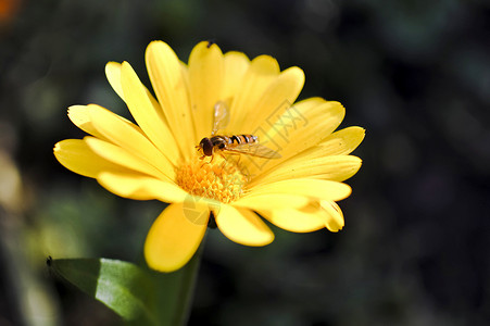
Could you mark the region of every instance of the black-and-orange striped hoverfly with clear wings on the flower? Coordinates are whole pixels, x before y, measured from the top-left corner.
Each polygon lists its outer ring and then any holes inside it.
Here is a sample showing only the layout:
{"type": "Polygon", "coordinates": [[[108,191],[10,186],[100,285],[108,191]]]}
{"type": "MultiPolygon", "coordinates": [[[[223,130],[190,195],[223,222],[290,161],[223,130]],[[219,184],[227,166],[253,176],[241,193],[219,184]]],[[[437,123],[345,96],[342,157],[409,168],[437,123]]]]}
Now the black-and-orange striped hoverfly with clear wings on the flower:
{"type": "Polygon", "coordinates": [[[204,137],[196,147],[202,153],[201,160],[211,156],[213,161],[214,153],[228,152],[230,154],[247,154],[264,159],[280,159],[280,154],[268,147],[259,143],[259,137],[254,135],[216,135],[219,129],[226,127],[229,122],[229,113],[226,103],[218,101],[214,105],[213,130],[211,137],[204,137]]]}

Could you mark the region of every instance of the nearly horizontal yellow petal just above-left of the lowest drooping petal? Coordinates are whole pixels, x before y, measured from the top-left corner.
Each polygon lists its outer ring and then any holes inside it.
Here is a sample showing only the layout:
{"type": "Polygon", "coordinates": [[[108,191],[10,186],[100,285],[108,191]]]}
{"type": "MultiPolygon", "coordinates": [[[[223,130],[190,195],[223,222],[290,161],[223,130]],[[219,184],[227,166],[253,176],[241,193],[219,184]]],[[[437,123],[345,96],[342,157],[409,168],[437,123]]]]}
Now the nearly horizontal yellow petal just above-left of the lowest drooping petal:
{"type": "Polygon", "coordinates": [[[183,202],[188,193],[175,184],[138,173],[102,172],[97,175],[99,184],[109,191],[129,199],[163,202],[183,202]]]}

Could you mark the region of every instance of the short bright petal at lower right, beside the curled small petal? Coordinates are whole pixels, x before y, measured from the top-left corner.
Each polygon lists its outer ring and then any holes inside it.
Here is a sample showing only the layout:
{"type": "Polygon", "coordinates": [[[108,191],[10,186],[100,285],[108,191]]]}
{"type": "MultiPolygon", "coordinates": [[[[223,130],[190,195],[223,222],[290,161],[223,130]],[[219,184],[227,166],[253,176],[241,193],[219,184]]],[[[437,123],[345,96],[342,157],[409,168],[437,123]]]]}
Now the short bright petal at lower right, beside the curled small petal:
{"type": "Polygon", "coordinates": [[[318,205],[310,204],[298,210],[282,209],[259,213],[274,225],[292,233],[311,233],[325,227],[326,212],[318,205]]]}

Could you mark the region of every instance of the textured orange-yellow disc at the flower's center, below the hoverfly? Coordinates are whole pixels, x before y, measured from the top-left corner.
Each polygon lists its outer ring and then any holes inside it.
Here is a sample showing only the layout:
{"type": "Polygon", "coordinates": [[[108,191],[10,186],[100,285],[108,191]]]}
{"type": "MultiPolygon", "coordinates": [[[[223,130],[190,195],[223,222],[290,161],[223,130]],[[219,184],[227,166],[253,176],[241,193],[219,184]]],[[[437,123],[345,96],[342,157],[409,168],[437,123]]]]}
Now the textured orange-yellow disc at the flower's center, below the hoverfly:
{"type": "Polygon", "coordinates": [[[187,192],[228,203],[239,199],[248,183],[247,176],[231,159],[214,155],[193,158],[177,171],[177,184],[187,192]]]}

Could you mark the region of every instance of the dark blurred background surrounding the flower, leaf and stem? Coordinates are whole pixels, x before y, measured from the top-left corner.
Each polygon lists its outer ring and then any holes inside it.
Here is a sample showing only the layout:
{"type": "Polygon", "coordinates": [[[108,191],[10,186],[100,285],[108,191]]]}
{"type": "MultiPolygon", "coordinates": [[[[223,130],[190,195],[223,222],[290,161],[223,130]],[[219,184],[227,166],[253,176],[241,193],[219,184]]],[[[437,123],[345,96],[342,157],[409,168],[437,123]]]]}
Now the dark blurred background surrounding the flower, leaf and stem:
{"type": "Polygon", "coordinates": [[[272,54],[301,99],[341,101],[364,160],[345,227],[248,248],[211,230],[190,325],[490,324],[490,3],[467,0],[0,0],[0,325],[118,325],[46,258],[141,261],[160,202],[62,167],[66,108],[128,116],[104,77],[146,46],[272,54]]]}

